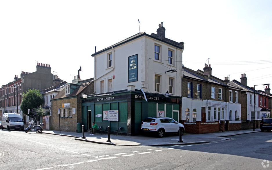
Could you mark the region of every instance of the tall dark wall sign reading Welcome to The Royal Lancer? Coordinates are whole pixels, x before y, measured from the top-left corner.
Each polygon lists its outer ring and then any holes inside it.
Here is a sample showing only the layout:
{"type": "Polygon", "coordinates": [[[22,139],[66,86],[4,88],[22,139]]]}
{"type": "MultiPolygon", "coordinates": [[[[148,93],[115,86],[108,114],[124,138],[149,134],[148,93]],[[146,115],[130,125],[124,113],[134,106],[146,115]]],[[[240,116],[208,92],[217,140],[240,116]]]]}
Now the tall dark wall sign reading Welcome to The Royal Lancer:
{"type": "Polygon", "coordinates": [[[138,81],[138,54],[128,57],[128,82],[138,81]]]}

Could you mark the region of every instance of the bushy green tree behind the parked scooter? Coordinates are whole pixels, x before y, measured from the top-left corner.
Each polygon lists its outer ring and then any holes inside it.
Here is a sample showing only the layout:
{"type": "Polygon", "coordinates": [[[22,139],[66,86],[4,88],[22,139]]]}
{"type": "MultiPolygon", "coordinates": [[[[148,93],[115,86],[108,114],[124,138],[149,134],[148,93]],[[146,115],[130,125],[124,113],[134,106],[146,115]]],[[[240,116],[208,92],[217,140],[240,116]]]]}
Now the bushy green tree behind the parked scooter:
{"type": "Polygon", "coordinates": [[[24,114],[36,120],[36,117],[33,116],[32,109],[37,109],[42,104],[43,104],[43,97],[38,89],[32,89],[32,90],[28,89],[26,93],[23,92],[20,108],[24,114]],[[28,114],[28,109],[31,110],[29,114],[28,114]]]}

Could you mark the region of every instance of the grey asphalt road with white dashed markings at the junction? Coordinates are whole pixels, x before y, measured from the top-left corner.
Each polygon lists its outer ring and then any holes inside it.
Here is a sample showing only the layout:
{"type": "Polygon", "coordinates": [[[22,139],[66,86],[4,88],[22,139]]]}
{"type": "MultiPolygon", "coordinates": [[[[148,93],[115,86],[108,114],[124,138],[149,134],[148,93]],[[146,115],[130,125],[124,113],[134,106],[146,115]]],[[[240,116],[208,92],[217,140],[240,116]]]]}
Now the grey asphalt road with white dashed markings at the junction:
{"type": "Polygon", "coordinates": [[[217,143],[139,147],[0,130],[0,169],[271,169],[269,162],[263,162],[272,160],[271,132],[231,138],[217,143]]]}

